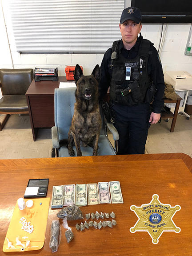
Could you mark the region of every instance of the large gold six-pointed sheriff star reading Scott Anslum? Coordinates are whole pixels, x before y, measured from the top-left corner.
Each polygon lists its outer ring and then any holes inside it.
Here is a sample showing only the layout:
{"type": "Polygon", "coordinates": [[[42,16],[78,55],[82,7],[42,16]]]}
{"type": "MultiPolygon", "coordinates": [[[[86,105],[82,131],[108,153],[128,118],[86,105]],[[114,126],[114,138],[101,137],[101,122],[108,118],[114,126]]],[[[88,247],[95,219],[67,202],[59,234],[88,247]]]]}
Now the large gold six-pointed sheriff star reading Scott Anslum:
{"type": "Polygon", "coordinates": [[[131,233],[136,231],[145,231],[152,238],[153,244],[158,244],[159,238],[164,231],[180,232],[176,227],[172,217],[177,211],[180,211],[180,205],[171,207],[170,204],[162,204],[159,196],[154,194],[149,204],[142,204],[140,207],[132,205],[130,209],[135,212],[138,220],[134,227],[130,228],[131,233]]]}

